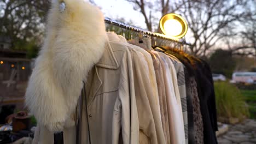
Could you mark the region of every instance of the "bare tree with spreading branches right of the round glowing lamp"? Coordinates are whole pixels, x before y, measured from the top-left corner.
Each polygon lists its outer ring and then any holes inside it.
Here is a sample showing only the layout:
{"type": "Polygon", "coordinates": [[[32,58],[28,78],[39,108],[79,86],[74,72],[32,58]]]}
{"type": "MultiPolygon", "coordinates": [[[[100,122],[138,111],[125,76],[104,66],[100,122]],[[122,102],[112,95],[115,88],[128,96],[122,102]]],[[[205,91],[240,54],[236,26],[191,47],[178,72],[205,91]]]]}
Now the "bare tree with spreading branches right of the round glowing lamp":
{"type": "MultiPolygon", "coordinates": [[[[184,1],[184,0],[183,0],[184,1]]],[[[183,16],[193,33],[191,52],[205,56],[219,40],[231,35],[223,35],[226,28],[232,27],[241,17],[246,17],[245,6],[249,1],[184,1],[183,16]]]]}

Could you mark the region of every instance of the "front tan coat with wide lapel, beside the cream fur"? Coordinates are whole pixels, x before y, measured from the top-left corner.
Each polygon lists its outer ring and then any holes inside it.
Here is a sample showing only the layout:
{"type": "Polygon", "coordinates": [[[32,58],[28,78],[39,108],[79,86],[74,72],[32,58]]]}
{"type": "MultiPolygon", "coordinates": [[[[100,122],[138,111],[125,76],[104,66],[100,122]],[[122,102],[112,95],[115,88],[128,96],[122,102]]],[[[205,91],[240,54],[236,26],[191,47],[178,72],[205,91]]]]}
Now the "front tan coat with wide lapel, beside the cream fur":
{"type": "MultiPolygon", "coordinates": [[[[107,43],[105,48],[86,82],[91,142],[119,143],[121,133],[123,143],[138,143],[138,114],[129,49],[117,43],[107,43]]],[[[83,106],[81,143],[88,143],[85,104],[83,106]]],[[[39,143],[53,143],[53,133],[42,127],[39,133],[39,143]]],[[[66,128],[63,135],[64,143],[75,143],[75,126],[66,128]]]]}

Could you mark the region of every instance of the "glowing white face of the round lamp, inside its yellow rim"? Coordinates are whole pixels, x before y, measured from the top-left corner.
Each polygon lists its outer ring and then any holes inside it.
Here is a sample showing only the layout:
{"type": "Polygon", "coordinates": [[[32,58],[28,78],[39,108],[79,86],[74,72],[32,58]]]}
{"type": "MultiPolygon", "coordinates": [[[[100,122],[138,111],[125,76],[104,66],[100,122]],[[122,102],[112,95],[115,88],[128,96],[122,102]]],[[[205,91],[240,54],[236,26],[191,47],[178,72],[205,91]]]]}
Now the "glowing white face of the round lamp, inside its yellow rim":
{"type": "Polygon", "coordinates": [[[164,23],[164,29],[167,35],[177,36],[182,33],[182,25],[179,21],[171,19],[164,23]]]}

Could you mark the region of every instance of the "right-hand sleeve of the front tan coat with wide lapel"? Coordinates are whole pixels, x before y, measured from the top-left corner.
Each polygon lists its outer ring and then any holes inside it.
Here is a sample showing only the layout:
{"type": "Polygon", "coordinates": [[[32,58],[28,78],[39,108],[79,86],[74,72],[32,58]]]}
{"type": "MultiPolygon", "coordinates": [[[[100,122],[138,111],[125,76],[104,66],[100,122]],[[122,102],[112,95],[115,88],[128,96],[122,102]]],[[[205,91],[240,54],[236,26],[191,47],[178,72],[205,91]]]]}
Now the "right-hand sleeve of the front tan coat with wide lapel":
{"type": "Polygon", "coordinates": [[[132,61],[128,50],[123,56],[120,69],[121,76],[119,81],[118,99],[114,106],[112,139],[113,143],[119,141],[119,132],[121,129],[121,136],[124,144],[138,143],[138,113],[135,101],[132,61]]]}

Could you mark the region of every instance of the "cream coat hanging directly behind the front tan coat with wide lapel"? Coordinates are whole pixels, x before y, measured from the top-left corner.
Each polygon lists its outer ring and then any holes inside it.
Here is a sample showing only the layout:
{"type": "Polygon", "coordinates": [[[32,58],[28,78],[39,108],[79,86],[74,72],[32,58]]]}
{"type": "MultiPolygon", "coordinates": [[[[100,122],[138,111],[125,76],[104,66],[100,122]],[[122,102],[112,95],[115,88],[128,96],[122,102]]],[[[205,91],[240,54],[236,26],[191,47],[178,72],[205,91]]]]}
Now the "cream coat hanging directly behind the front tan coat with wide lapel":
{"type": "Polygon", "coordinates": [[[135,95],[139,117],[139,143],[166,143],[161,125],[158,87],[150,54],[127,43],[125,38],[108,33],[110,41],[129,47],[132,54],[135,95]]]}

